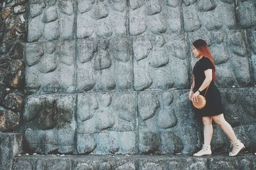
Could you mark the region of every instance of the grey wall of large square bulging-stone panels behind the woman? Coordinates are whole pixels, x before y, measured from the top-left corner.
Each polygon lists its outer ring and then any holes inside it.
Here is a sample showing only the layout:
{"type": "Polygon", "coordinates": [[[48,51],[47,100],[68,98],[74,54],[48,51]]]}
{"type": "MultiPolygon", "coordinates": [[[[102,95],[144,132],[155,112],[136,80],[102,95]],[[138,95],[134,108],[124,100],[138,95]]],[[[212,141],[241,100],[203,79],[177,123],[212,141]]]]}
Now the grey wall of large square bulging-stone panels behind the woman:
{"type": "MultiPolygon", "coordinates": [[[[225,117],[255,152],[253,0],[31,0],[27,7],[19,117],[26,152],[195,152],[202,124],[188,89],[198,38],[211,46],[225,117]]],[[[214,132],[214,152],[229,150],[225,134],[215,125],[214,132]]]]}

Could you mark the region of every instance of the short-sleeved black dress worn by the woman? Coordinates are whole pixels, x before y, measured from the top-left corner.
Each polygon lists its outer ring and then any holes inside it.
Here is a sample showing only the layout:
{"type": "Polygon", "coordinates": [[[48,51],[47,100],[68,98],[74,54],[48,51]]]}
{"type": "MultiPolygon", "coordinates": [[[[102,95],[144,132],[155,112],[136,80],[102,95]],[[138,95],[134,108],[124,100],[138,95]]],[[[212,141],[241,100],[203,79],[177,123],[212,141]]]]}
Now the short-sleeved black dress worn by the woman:
{"type": "MultiPolygon", "coordinates": [[[[195,77],[195,85],[194,85],[193,92],[196,92],[204,82],[205,80],[204,71],[206,69],[213,70],[213,65],[210,59],[208,59],[207,57],[202,57],[202,59],[196,62],[193,68],[193,75],[195,77]]],[[[204,96],[206,89],[207,88],[205,88],[201,92],[202,96],[204,96]]],[[[224,113],[223,105],[221,103],[220,91],[217,89],[216,85],[214,85],[214,82],[211,82],[209,89],[206,93],[205,99],[206,99],[206,105],[201,110],[198,110],[193,106],[193,110],[196,116],[211,117],[214,115],[220,115],[221,113],[224,113]]]]}

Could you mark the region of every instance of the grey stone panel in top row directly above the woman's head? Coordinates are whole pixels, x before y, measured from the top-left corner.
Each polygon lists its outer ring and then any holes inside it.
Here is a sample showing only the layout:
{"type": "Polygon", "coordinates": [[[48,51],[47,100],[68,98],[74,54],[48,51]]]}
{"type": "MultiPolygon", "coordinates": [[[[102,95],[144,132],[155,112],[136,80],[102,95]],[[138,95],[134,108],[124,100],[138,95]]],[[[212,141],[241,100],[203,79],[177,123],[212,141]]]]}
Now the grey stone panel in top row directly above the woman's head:
{"type": "Polygon", "coordinates": [[[183,6],[185,31],[196,31],[198,29],[217,30],[235,29],[236,15],[233,3],[212,1],[200,1],[189,6],[183,6]],[[228,16],[228,18],[223,17],[228,16]],[[212,22],[214,20],[214,22],[212,22]]]}

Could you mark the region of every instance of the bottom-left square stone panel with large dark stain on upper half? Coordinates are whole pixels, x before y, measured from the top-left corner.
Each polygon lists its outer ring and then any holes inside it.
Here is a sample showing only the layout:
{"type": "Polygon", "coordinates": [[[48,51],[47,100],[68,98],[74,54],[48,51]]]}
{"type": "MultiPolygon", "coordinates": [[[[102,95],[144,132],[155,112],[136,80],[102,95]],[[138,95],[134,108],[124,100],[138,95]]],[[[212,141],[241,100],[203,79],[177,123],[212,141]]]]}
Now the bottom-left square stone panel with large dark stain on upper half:
{"type": "Polygon", "coordinates": [[[26,148],[40,153],[74,152],[74,96],[30,96],[26,100],[26,148]]]}

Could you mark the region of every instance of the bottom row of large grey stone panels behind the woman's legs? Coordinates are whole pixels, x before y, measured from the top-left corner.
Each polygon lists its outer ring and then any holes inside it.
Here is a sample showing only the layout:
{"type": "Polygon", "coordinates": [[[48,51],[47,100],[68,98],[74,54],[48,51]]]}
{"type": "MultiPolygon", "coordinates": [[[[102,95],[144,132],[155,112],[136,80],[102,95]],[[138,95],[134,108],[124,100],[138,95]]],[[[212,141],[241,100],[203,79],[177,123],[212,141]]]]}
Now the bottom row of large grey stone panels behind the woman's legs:
{"type": "MultiPolygon", "coordinates": [[[[225,118],[246,150],[255,151],[255,88],[220,91],[225,118]]],[[[92,154],[195,152],[203,128],[187,96],[187,90],[30,96],[24,113],[27,149],[92,154]],[[62,146],[69,148],[62,150],[62,146]]],[[[215,125],[212,140],[214,152],[230,149],[227,136],[215,125]]]]}

